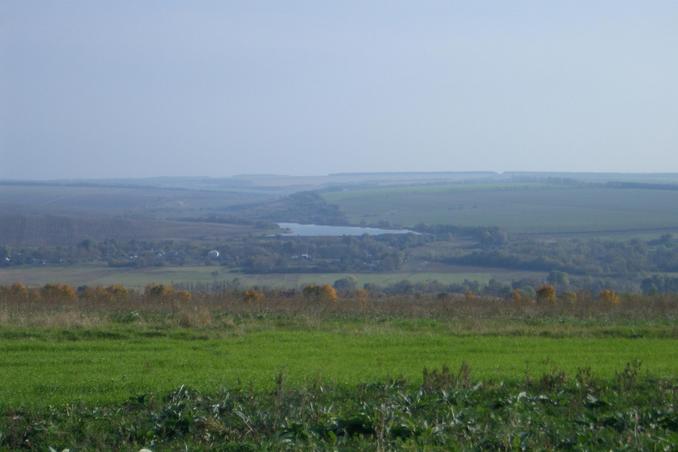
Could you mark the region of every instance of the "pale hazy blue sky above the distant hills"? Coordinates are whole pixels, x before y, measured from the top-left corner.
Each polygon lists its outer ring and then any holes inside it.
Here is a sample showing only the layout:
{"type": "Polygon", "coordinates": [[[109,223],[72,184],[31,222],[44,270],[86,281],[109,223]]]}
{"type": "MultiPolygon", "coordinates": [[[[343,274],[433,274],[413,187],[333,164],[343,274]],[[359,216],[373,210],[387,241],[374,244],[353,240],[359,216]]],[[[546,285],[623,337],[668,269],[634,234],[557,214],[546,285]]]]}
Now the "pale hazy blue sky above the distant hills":
{"type": "Polygon", "coordinates": [[[0,179],[678,172],[678,2],[0,1],[0,179]]]}

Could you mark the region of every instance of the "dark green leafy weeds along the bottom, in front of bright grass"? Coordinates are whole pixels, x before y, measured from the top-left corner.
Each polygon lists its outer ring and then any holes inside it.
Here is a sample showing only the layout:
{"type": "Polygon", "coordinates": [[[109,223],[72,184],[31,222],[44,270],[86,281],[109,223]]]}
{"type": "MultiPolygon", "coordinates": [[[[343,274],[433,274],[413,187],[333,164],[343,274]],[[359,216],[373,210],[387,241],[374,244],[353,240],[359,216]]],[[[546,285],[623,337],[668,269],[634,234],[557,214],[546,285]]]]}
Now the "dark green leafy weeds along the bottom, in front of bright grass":
{"type": "Polygon", "coordinates": [[[0,413],[0,449],[38,450],[675,450],[675,379],[628,365],[599,380],[551,372],[488,383],[425,372],[366,385],[181,386],[113,406],[0,413]]]}

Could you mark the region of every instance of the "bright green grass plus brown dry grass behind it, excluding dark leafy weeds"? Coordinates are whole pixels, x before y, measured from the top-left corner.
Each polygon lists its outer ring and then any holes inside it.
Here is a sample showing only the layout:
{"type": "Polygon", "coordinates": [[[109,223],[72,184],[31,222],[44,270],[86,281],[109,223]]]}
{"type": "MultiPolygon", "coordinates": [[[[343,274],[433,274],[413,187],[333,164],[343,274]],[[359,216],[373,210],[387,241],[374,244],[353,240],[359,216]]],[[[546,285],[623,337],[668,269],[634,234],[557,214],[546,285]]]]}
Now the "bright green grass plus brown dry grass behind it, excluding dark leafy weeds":
{"type": "Polygon", "coordinates": [[[297,385],[399,376],[416,382],[423,368],[464,362],[476,377],[493,380],[585,367],[610,377],[635,360],[654,375],[678,375],[678,303],[670,297],[332,302],[276,291],[245,301],[237,291],[75,298],[50,290],[0,297],[5,406],[120,402],[181,384],[263,388],[279,373],[297,385]]]}

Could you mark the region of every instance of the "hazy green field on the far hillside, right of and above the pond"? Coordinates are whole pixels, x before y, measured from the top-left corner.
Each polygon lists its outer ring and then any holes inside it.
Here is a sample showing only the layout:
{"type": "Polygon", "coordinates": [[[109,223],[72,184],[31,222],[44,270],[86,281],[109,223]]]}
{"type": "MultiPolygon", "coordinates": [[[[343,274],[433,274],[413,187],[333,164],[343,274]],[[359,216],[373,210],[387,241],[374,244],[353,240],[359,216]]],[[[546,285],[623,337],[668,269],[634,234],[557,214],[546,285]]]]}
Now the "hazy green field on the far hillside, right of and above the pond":
{"type": "Polygon", "coordinates": [[[678,191],[545,184],[383,187],[323,193],[354,224],[499,226],[510,232],[678,229],[678,191]]]}

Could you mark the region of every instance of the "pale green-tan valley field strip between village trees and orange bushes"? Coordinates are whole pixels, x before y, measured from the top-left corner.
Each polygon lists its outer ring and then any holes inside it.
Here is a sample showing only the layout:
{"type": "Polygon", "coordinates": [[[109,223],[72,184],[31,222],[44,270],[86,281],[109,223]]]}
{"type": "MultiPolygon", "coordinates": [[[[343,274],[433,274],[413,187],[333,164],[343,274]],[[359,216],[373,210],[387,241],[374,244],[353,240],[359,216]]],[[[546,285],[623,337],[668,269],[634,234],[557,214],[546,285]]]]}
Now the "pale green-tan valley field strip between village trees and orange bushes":
{"type": "Polygon", "coordinates": [[[0,270],[0,284],[22,282],[28,285],[43,285],[64,282],[75,286],[110,285],[141,288],[150,283],[206,284],[232,281],[237,278],[243,286],[268,286],[294,288],[309,283],[328,283],[346,276],[354,276],[359,284],[393,284],[402,280],[412,283],[436,280],[441,283],[460,283],[465,279],[487,283],[492,278],[511,281],[528,276],[543,276],[539,272],[512,271],[503,269],[480,269],[475,267],[450,267],[448,271],[433,272],[388,272],[388,273],[272,273],[243,274],[230,272],[220,266],[112,268],[104,266],[45,266],[18,267],[0,270]],[[216,273],[215,273],[216,272],[216,273]]]}

